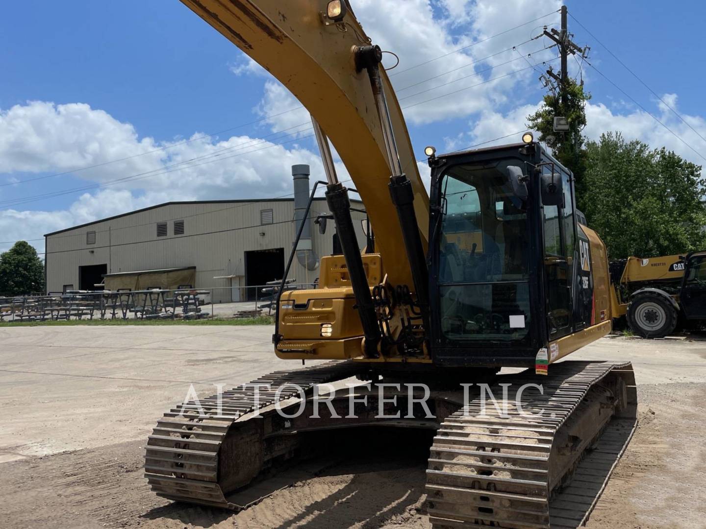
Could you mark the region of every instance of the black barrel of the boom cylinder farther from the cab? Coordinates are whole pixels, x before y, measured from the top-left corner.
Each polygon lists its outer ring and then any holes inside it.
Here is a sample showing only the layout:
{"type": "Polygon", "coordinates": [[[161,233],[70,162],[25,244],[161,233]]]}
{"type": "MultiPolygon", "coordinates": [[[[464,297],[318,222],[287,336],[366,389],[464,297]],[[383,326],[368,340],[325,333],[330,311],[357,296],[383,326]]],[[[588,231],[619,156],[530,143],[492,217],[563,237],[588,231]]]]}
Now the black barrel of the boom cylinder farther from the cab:
{"type": "Polygon", "coordinates": [[[348,268],[348,276],[353,287],[358,316],[363,326],[365,336],[365,355],[368,358],[378,358],[378,343],[380,343],[380,327],[378,317],[370,294],[368,277],[363,267],[358,239],[353,228],[351,205],[348,190],[342,183],[331,183],[326,187],[326,201],[336,223],[336,233],[343,250],[343,257],[348,268]]]}

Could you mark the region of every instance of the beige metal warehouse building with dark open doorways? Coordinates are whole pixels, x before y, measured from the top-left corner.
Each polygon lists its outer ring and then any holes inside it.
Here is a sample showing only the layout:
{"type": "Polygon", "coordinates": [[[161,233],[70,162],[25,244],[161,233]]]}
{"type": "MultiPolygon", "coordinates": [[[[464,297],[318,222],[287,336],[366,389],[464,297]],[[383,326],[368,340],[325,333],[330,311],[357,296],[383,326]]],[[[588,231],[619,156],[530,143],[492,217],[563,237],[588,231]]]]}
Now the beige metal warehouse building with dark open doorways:
{"type": "MultiPolygon", "coordinates": [[[[282,279],[297,219],[304,217],[309,166],[293,166],[292,176],[294,198],[167,202],[47,233],[47,291],[100,289],[96,285],[111,274],[142,272],[160,281],[169,269],[184,269],[192,272],[194,288],[215,289],[214,303],[252,299],[255,289],[244,287],[282,279]]],[[[361,204],[353,207],[359,209],[361,204]]],[[[312,226],[313,219],[327,212],[324,198],[313,200],[289,272],[289,279],[297,283],[313,283],[319,259],[333,252],[333,226],[324,234],[312,226]]],[[[366,215],[353,211],[352,217],[362,248],[366,215]]]]}

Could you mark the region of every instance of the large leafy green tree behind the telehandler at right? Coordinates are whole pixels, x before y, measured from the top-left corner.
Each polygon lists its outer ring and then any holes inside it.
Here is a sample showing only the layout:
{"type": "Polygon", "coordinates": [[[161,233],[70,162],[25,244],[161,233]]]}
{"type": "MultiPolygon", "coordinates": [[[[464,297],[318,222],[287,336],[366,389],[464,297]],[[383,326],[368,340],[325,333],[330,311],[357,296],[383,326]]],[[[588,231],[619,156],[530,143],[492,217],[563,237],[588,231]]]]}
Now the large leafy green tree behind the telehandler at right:
{"type": "Polygon", "coordinates": [[[582,211],[611,259],[706,248],[706,178],[674,152],[607,133],[586,144],[582,211]]]}

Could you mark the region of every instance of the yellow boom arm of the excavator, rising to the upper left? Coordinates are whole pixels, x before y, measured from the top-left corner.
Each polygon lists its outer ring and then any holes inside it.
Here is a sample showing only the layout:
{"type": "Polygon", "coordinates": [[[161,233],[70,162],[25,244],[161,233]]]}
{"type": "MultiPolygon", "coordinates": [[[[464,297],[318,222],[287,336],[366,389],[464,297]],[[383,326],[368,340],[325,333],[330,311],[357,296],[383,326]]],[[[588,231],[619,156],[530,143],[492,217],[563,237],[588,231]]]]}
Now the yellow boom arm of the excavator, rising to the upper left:
{"type": "MultiPolygon", "coordinates": [[[[325,25],[327,0],[181,0],[285,85],[318,121],[349,171],[376,234],[392,284],[412,284],[397,212],[390,200],[392,170],[366,71],[353,49],[368,39],[349,11],[325,25]]],[[[426,249],[429,196],[390,80],[381,72],[402,170],[412,182],[414,209],[426,249]]]]}

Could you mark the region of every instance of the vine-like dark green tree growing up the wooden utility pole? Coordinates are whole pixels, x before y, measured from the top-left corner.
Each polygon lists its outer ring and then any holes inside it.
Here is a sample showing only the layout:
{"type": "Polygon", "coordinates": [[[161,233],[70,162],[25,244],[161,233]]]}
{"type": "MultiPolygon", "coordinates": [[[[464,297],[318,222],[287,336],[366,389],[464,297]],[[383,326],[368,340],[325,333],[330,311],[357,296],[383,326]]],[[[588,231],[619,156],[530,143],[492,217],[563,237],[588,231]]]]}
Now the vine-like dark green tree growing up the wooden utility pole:
{"type": "Polygon", "coordinates": [[[568,79],[563,87],[563,101],[557,93],[544,96],[544,104],[534,114],[527,116],[527,127],[539,132],[539,141],[544,142],[563,166],[574,174],[574,187],[578,208],[583,208],[585,195],[584,174],[586,171],[585,138],[581,131],[586,126],[586,102],[591,95],[583,91],[583,86],[573,79],[568,79]],[[554,132],[554,118],[562,116],[568,119],[568,133],[554,132]]]}

